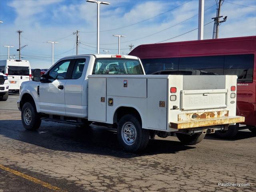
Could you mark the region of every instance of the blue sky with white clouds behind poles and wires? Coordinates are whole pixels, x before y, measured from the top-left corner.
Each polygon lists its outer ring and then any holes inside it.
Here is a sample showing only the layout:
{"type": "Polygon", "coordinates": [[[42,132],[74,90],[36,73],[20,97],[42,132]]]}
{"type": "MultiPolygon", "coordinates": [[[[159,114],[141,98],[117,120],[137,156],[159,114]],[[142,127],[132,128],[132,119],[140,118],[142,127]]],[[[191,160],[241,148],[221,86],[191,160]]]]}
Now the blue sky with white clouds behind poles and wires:
{"type": "MultiPolygon", "coordinates": [[[[110,5],[100,6],[101,53],[104,49],[110,50],[110,54],[118,52],[118,39],[112,36],[114,34],[126,36],[121,39],[121,53],[124,54],[130,52],[130,44],[136,47],[170,38],[165,42],[197,39],[197,30],[173,37],[198,27],[198,0],[106,1],[110,5]],[[143,20],[146,21],[141,22],[143,20]]],[[[207,24],[216,15],[215,0],[205,0],[204,9],[204,23],[207,24]]],[[[221,15],[228,19],[220,25],[220,38],[256,35],[256,0],[225,0],[221,15]]],[[[22,59],[29,60],[32,68],[50,67],[52,50],[46,41],[59,42],[54,46],[55,62],[76,54],[76,35],[73,35],[76,30],[80,31],[79,54],[96,52],[95,3],[85,0],[0,0],[0,20],[4,22],[0,24],[0,60],[7,58],[4,45],[14,46],[10,48],[10,54],[18,58],[16,30],[24,31],[21,44],[28,46],[22,50],[22,59]]],[[[212,38],[212,30],[213,23],[205,26],[204,39],[212,38]]]]}

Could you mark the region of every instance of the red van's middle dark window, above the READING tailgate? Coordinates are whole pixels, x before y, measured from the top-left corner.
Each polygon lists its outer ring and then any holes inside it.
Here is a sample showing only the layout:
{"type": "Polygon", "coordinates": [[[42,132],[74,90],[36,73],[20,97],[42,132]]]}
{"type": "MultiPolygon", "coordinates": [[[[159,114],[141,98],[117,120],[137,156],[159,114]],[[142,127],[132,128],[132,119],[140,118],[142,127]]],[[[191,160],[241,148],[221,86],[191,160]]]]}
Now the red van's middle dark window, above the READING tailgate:
{"type": "Polygon", "coordinates": [[[200,56],[182,57],[179,62],[179,70],[194,71],[200,75],[223,75],[224,56],[200,56]]]}

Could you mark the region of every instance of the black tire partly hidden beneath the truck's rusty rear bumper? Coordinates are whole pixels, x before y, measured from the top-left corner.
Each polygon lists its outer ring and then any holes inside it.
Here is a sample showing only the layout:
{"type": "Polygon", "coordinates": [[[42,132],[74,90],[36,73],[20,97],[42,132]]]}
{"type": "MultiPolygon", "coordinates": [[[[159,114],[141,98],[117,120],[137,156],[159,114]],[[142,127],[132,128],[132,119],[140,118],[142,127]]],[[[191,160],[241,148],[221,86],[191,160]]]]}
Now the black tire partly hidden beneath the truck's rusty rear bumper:
{"type": "Polygon", "coordinates": [[[205,134],[196,133],[193,135],[187,135],[182,133],[176,133],[176,136],[184,145],[195,145],[204,139],[205,134]]]}

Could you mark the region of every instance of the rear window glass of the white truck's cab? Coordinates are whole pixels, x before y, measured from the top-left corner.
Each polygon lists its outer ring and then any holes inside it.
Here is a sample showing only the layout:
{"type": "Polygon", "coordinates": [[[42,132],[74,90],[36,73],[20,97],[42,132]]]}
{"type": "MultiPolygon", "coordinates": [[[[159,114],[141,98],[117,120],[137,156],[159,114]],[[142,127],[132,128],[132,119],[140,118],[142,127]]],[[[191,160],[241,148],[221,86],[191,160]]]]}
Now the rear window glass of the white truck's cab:
{"type": "Polygon", "coordinates": [[[138,74],[143,75],[140,62],[133,59],[98,58],[92,74],[138,74]]]}

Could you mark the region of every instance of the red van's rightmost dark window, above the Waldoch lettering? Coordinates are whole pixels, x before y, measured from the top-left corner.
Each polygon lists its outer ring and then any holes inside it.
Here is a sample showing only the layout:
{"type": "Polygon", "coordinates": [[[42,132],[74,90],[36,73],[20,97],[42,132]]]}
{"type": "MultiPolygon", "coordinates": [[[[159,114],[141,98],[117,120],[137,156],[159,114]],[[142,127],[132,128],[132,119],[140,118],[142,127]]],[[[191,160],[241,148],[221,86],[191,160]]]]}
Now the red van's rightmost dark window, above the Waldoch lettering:
{"type": "Polygon", "coordinates": [[[253,54],[226,55],[224,75],[237,75],[238,82],[252,82],[253,63],[253,54]]]}

